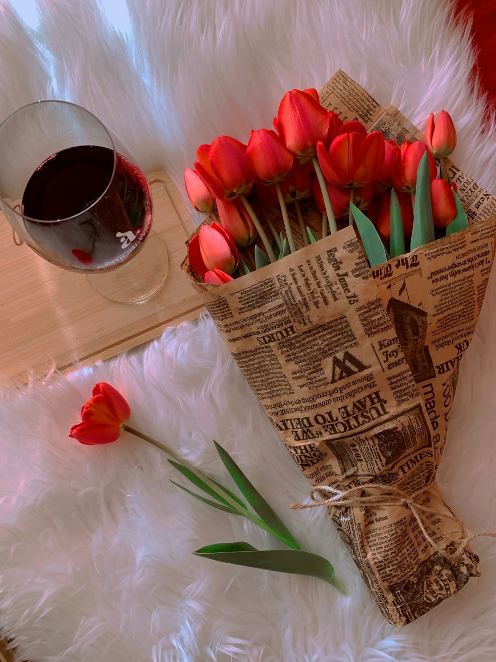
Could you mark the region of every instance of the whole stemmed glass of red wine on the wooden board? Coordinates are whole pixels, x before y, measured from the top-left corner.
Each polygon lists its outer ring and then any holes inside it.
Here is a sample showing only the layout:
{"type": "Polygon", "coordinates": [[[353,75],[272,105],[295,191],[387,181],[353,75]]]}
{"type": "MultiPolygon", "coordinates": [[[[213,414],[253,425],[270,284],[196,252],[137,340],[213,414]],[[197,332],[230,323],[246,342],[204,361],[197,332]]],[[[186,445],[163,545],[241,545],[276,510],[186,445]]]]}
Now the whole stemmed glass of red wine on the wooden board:
{"type": "Polygon", "coordinates": [[[14,238],[86,273],[113,301],[145,301],[160,287],[167,252],[150,232],[149,184],[95,115],[66,101],[31,103],[0,124],[0,150],[0,209],[14,238]]]}

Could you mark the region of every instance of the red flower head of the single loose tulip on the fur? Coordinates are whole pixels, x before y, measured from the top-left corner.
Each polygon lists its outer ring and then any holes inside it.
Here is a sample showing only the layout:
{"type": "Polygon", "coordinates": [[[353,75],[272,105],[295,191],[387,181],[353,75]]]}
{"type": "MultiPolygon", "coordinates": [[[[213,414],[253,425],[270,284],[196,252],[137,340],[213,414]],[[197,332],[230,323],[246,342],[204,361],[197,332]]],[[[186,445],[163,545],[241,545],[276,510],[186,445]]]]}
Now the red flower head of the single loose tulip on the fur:
{"type": "Polygon", "coordinates": [[[81,444],[110,444],[120,437],[131,415],[128,403],[113,386],[95,384],[93,397],[81,409],[82,423],[73,425],[69,437],[81,444]]]}

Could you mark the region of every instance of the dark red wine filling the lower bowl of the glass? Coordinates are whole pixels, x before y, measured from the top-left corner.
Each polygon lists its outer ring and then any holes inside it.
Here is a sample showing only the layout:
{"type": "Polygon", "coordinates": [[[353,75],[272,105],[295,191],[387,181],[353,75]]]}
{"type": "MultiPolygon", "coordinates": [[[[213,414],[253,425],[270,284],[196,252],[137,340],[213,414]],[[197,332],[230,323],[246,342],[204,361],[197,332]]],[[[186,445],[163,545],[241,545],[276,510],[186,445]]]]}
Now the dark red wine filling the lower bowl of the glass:
{"type": "Polygon", "coordinates": [[[52,254],[75,271],[106,271],[140,248],[152,210],[149,185],[137,166],[109,148],[81,145],[48,156],[36,168],[21,211],[44,257],[52,254]]]}

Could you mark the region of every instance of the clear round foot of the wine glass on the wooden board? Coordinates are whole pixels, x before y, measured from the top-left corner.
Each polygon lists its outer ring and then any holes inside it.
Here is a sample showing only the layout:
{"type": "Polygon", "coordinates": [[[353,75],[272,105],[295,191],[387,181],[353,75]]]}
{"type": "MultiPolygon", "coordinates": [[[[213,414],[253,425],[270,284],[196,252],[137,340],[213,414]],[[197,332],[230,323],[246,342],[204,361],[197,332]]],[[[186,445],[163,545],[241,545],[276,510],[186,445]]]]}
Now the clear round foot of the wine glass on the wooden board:
{"type": "Polygon", "coordinates": [[[105,299],[118,303],[142,303],[165,281],[169,258],[161,238],[152,230],[141,250],[121,267],[91,273],[87,281],[105,299]]]}

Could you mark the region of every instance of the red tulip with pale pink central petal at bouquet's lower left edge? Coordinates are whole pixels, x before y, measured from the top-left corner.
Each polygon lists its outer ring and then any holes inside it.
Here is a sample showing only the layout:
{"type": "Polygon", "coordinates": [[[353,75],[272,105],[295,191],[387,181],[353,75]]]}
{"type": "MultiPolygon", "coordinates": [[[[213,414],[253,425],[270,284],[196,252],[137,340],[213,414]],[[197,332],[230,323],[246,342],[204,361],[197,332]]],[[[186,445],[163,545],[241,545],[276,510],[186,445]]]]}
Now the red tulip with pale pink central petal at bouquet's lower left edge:
{"type": "Polygon", "coordinates": [[[204,277],[207,271],[232,273],[238,263],[236,244],[218,223],[202,225],[188,246],[190,267],[204,277]]]}

